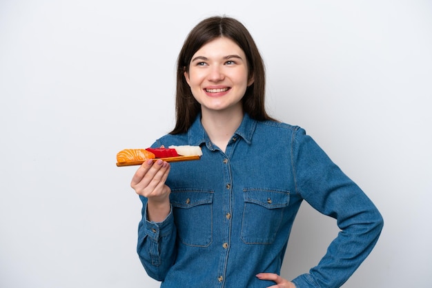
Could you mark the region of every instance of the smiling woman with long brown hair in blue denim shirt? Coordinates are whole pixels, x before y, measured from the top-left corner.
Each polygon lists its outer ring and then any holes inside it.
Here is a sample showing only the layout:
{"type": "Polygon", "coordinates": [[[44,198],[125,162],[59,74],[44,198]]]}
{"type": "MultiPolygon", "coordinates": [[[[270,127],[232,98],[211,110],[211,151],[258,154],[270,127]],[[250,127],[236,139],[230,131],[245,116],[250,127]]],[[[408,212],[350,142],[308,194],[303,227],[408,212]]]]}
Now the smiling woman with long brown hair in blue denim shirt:
{"type": "Polygon", "coordinates": [[[244,25],[210,17],[177,66],[177,123],[153,147],[199,145],[199,161],[151,161],[137,252],[161,287],[340,287],[373,249],[380,212],[306,132],[264,109],[265,72],[244,25]],[[342,230],[308,274],[279,276],[302,200],[342,230]]]}

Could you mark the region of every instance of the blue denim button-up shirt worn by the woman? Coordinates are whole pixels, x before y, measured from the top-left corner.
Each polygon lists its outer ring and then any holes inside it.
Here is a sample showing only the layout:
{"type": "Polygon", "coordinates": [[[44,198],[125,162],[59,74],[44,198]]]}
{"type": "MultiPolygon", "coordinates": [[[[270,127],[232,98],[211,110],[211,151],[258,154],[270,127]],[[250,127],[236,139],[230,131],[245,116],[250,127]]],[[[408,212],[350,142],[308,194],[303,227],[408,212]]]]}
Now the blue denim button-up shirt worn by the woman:
{"type": "Polygon", "coordinates": [[[268,287],[260,272],[280,273],[294,218],[306,200],[337,219],[340,233],[297,288],[340,287],[373,249],[383,225],[371,200],[297,126],[247,114],[226,152],[199,117],[160,145],[199,145],[199,161],[171,163],[171,212],[139,223],[137,252],[161,287],[268,287]]]}

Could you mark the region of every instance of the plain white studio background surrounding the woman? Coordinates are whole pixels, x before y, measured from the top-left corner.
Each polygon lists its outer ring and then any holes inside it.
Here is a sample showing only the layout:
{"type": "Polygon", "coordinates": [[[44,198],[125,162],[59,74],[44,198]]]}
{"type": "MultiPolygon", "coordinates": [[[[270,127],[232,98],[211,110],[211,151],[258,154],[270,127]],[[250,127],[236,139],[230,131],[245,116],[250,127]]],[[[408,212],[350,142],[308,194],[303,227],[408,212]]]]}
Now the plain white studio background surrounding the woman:
{"type": "MultiPolygon", "coordinates": [[[[344,287],[431,287],[426,0],[1,0],[0,287],[159,287],[135,252],[136,167],[115,155],[173,128],[177,53],[213,14],[253,34],[268,111],[304,127],[384,216],[344,287]]],[[[336,234],[305,203],[282,276],[316,265],[336,234]]]]}

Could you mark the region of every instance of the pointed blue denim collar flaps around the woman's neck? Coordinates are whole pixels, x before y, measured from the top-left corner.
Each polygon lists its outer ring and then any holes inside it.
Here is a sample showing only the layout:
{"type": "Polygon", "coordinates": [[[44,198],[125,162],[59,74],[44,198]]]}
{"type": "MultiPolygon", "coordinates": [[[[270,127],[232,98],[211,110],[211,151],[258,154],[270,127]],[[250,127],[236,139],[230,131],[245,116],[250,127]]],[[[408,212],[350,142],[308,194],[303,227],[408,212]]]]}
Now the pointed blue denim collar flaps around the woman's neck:
{"type": "MultiPolygon", "coordinates": [[[[255,132],[255,127],[257,126],[257,121],[251,119],[251,117],[245,113],[242,123],[237,128],[235,135],[238,135],[246,141],[246,143],[251,144],[253,132],[255,132]]],[[[201,114],[198,114],[197,118],[190,126],[188,130],[188,138],[190,145],[199,146],[202,143],[210,142],[208,139],[206,130],[201,123],[201,114]]]]}

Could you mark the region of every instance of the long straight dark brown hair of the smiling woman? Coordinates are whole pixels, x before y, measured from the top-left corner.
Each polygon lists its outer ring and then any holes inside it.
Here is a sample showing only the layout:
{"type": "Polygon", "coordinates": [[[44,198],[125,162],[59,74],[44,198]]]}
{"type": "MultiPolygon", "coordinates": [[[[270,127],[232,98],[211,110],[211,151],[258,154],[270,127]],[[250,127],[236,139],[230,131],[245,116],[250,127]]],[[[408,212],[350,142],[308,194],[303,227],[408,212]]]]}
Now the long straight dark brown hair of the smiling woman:
{"type": "Polygon", "coordinates": [[[255,120],[273,120],[266,113],[265,90],[266,72],[264,61],[251,34],[246,27],[230,17],[210,17],[199,22],[188,34],[177,59],[177,92],[175,97],[176,124],[170,134],[186,133],[201,111],[201,105],[195,100],[184,78],[189,71],[190,60],[199,48],[219,37],[233,40],[246,54],[248,61],[248,79],[254,78],[253,84],[243,96],[243,110],[255,120]]]}

